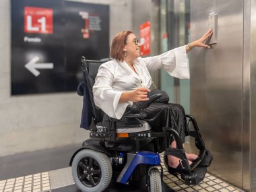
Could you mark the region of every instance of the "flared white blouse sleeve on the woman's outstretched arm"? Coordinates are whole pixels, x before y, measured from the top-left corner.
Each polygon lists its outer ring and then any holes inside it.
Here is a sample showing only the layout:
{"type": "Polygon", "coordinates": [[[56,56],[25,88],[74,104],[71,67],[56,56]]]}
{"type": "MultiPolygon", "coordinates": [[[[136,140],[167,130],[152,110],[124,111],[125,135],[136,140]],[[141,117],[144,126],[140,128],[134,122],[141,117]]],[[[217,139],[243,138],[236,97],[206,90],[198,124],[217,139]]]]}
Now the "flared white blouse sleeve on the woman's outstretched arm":
{"type": "Polygon", "coordinates": [[[181,46],[155,57],[140,58],[146,64],[148,71],[164,69],[172,77],[189,79],[189,59],[186,46],[181,46]]]}

